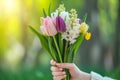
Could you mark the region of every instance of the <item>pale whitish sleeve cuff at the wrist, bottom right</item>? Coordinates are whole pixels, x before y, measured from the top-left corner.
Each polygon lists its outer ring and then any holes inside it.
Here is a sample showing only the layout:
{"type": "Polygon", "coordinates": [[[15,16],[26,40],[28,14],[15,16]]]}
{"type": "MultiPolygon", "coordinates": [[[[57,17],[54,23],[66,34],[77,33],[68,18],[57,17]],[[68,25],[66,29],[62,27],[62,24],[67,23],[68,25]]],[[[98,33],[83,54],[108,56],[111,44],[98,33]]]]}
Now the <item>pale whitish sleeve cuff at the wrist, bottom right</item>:
{"type": "Polygon", "coordinates": [[[91,72],[91,80],[115,80],[109,77],[102,77],[100,74],[95,73],[95,72],[91,72]]]}

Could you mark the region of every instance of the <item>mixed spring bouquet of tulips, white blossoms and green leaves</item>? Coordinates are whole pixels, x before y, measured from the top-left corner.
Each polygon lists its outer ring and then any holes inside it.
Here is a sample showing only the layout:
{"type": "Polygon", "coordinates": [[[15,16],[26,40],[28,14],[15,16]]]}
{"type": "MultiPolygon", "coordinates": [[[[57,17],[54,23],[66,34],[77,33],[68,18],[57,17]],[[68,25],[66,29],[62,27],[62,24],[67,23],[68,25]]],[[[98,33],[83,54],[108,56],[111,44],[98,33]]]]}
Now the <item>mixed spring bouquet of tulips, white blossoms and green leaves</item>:
{"type": "MultiPolygon", "coordinates": [[[[77,11],[71,9],[66,11],[64,4],[61,4],[55,12],[48,14],[43,9],[44,17],[40,18],[40,31],[33,27],[30,29],[39,37],[42,47],[50,54],[53,60],[59,63],[73,63],[74,57],[84,39],[89,40],[91,33],[89,26],[84,20],[78,18],[77,11]]],[[[69,71],[66,70],[70,80],[69,71]]]]}

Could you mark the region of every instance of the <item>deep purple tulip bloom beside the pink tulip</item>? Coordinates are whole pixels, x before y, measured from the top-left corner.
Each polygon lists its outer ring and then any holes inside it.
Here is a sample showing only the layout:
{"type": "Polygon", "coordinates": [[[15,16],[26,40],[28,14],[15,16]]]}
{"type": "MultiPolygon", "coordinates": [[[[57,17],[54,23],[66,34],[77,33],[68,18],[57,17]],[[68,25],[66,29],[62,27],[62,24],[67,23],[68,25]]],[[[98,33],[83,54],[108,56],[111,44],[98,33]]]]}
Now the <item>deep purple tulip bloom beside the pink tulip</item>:
{"type": "Polygon", "coordinates": [[[66,30],[65,22],[60,16],[56,17],[56,29],[58,32],[64,32],[66,30]]]}

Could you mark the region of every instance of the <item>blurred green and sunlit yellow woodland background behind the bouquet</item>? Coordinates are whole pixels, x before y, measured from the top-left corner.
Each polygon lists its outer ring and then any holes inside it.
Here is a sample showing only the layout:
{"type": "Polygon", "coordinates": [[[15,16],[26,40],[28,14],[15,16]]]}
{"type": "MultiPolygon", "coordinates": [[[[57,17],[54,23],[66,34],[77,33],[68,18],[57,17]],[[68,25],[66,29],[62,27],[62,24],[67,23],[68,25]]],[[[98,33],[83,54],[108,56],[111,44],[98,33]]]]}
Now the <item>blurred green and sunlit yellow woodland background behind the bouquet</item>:
{"type": "Polygon", "coordinates": [[[120,80],[120,0],[0,0],[0,80],[52,80],[51,60],[30,31],[39,31],[42,9],[64,3],[80,18],[88,14],[91,40],[84,41],[77,66],[120,80]]]}

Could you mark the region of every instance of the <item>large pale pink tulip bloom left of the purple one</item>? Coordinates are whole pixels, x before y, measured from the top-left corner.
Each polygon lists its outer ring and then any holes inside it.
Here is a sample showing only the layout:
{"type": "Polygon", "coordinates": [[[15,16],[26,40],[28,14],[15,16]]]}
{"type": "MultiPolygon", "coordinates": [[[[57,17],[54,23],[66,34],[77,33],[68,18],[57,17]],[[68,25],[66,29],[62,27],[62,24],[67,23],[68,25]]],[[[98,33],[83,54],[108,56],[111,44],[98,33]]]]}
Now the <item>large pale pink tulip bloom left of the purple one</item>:
{"type": "Polygon", "coordinates": [[[41,32],[47,36],[54,36],[57,34],[55,21],[53,18],[41,18],[41,32]]]}

